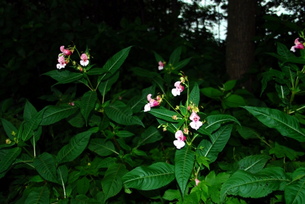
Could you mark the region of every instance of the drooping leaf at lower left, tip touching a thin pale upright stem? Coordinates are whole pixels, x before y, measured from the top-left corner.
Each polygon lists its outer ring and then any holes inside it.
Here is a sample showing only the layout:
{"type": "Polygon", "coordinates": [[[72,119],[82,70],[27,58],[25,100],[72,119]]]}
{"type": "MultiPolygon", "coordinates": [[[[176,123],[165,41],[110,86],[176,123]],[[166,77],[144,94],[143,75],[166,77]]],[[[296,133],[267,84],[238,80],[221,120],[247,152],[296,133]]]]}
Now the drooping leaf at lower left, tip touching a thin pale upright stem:
{"type": "Polygon", "coordinates": [[[55,168],[56,164],[52,155],[46,152],[42,153],[38,157],[35,157],[33,164],[42,178],[58,183],[55,168]]]}

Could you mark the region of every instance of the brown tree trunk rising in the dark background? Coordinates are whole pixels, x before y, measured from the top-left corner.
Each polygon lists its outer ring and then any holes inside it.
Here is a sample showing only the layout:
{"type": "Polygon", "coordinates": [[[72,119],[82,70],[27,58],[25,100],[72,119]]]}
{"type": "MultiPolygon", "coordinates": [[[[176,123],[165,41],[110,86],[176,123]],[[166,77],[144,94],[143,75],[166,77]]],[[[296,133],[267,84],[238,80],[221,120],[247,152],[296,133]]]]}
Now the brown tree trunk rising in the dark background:
{"type": "MultiPolygon", "coordinates": [[[[254,61],[256,0],[228,1],[226,71],[230,79],[241,79],[254,61]]],[[[247,85],[248,86],[248,85],[247,85]]]]}

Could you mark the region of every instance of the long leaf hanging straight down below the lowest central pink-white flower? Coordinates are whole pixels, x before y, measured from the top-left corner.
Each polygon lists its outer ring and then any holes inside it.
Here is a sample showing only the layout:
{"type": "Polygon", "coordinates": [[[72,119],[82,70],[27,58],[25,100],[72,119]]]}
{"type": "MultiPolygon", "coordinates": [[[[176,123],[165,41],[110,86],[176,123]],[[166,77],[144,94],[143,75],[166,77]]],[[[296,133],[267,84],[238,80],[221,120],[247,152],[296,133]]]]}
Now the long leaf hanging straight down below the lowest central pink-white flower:
{"type": "Polygon", "coordinates": [[[182,198],[193,170],[194,160],[195,152],[192,151],[192,146],[186,144],[181,150],[176,150],[175,177],[181,189],[182,198]]]}

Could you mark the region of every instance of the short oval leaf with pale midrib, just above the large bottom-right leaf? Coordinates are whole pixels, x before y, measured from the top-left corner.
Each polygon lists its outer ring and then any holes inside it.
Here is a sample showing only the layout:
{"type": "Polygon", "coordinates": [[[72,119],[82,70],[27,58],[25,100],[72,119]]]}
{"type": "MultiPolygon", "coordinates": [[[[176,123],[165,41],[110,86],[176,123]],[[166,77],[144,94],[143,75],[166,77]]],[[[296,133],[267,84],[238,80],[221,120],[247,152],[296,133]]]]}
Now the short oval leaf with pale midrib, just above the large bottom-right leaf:
{"type": "Polygon", "coordinates": [[[271,157],[267,155],[251,155],[240,160],[238,166],[240,170],[257,173],[263,169],[269,159],[271,157]]]}

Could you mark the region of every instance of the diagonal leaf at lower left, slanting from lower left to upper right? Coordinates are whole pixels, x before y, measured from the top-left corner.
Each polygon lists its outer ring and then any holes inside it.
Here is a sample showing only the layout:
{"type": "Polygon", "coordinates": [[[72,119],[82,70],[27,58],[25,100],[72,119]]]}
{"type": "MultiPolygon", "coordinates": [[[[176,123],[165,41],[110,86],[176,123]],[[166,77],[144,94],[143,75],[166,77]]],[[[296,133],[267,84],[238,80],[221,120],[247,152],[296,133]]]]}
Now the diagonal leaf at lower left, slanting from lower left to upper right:
{"type": "Polygon", "coordinates": [[[93,131],[86,131],[72,137],[69,144],[59,150],[56,157],[57,164],[72,161],[78,157],[86,148],[92,133],[93,131]]]}

